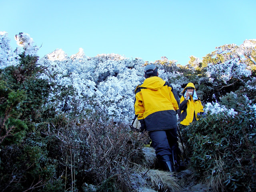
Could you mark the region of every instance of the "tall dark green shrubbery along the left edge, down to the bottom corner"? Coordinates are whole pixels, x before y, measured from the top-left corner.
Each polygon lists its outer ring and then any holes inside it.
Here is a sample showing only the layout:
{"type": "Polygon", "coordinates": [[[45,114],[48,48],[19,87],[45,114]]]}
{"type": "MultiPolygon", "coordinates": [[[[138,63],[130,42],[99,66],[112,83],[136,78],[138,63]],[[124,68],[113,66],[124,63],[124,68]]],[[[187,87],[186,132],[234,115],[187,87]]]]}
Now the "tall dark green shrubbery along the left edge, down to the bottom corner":
{"type": "Polygon", "coordinates": [[[50,86],[38,78],[43,72],[36,64],[38,57],[20,57],[18,66],[0,70],[0,191],[54,191],[55,185],[61,191],[60,173],[56,174],[60,141],[46,127],[44,137],[35,129],[42,116],[58,128],[56,113],[44,112],[48,108],[43,107],[50,86]]]}

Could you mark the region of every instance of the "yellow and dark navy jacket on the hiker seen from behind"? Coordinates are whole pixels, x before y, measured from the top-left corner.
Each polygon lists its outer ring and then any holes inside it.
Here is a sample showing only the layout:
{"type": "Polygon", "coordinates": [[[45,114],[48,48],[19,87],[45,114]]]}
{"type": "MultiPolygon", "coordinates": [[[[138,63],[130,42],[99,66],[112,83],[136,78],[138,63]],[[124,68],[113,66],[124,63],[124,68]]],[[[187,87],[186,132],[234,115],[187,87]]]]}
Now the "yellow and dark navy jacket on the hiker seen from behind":
{"type": "Polygon", "coordinates": [[[135,115],[145,120],[147,131],[176,127],[179,104],[178,94],[158,76],[146,78],[135,89],[135,115]]]}

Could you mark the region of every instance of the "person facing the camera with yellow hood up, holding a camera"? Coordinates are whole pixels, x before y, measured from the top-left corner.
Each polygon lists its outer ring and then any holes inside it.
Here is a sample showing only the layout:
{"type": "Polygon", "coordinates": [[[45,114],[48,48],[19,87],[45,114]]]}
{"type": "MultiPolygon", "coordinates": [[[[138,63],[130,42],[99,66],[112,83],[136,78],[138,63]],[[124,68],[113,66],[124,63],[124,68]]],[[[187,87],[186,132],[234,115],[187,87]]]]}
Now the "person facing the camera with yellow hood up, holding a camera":
{"type": "Polygon", "coordinates": [[[200,98],[196,94],[193,83],[188,83],[180,98],[180,124],[187,126],[192,121],[198,120],[198,114],[204,112],[200,98]]]}

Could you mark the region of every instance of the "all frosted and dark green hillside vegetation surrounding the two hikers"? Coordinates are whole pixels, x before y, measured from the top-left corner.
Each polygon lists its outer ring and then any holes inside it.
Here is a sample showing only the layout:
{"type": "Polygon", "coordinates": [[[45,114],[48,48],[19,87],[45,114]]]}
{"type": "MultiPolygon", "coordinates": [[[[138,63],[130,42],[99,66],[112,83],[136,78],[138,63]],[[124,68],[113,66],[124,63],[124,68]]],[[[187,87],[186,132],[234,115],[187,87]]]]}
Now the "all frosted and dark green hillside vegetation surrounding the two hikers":
{"type": "MultiPolygon", "coordinates": [[[[90,58],[81,48],[39,58],[28,34],[16,40],[22,47],[12,50],[0,32],[0,190],[160,191],[142,151],[148,135],[131,130],[134,89],[149,63],[90,58]]],[[[194,83],[204,105],[206,115],[180,130],[198,182],[255,191],[256,40],[216,47],[202,60],[191,56],[186,66],[166,57],[153,64],[180,96],[194,83]]],[[[162,191],[179,191],[177,178],[168,181],[162,191]]]]}

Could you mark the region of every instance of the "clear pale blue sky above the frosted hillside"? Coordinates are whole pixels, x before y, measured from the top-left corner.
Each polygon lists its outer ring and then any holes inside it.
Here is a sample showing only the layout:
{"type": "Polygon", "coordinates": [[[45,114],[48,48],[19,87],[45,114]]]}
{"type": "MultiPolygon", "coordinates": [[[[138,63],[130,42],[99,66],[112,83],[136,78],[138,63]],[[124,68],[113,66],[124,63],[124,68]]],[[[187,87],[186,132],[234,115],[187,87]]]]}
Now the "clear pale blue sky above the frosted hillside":
{"type": "Polygon", "coordinates": [[[120,54],[144,61],[200,59],[224,44],[256,38],[255,0],[0,0],[0,31],[30,34],[42,57],[120,54]]]}

